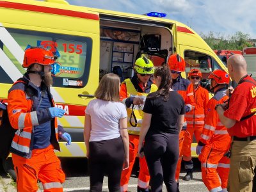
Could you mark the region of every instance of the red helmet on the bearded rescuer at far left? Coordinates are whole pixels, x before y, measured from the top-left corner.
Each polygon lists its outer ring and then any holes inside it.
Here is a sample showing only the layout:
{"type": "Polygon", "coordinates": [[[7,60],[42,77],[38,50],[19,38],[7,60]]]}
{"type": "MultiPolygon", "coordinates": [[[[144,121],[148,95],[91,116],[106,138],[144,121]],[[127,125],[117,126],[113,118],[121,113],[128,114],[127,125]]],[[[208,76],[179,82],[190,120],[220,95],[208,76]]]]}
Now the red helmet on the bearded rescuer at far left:
{"type": "Polygon", "coordinates": [[[44,47],[29,47],[25,50],[22,67],[28,68],[34,63],[40,65],[52,65],[55,63],[56,57],[51,51],[44,47]]]}

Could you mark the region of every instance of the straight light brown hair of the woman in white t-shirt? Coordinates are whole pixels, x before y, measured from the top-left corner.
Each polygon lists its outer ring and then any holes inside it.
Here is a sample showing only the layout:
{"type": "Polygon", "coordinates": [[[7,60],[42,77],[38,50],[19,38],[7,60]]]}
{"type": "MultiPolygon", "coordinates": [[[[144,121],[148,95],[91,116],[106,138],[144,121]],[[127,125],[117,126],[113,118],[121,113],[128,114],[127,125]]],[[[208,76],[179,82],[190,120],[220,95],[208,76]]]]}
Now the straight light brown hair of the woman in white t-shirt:
{"type": "Polygon", "coordinates": [[[106,74],[100,79],[94,95],[97,99],[120,102],[119,84],[120,78],[116,74],[106,74]]]}

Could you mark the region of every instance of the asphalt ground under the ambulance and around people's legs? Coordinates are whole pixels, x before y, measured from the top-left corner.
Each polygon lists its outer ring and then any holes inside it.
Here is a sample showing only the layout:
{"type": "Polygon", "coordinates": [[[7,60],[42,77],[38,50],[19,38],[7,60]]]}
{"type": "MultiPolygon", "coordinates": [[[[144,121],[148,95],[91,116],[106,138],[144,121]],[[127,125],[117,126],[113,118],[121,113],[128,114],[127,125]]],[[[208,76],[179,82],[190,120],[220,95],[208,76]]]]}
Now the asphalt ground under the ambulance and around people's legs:
{"type": "MultiPolygon", "coordinates": [[[[198,159],[193,159],[194,161],[194,173],[193,179],[189,181],[182,180],[182,177],[186,175],[184,170],[181,170],[180,173],[180,191],[196,191],[196,192],[204,192],[207,191],[204,183],[202,182],[201,172],[200,172],[200,162],[198,159]]],[[[85,158],[81,159],[67,159],[61,158],[62,168],[66,173],[66,181],[63,184],[63,191],[72,191],[72,192],[84,192],[89,191],[90,189],[90,181],[88,175],[87,168],[87,160],[85,158]]],[[[15,183],[10,179],[6,173],[4,173],[3,168],[0,168],[0,192],[14,192],[15,183]]],[[[138,182],[138,162],[134,164],[134,169],[132,171],[131,179],[129,181],[129,191],[135,192],[137,191],[137,182],[138,182]]],[[[42,184],[39,184],[40,189],[42,191],[42,184]]],[[[104,177],[104,183],[102,191],[108,191],[108,177],[104,177]]],[[[163,191],[166,191],[165,186],[163,185],[163,191]]]]}

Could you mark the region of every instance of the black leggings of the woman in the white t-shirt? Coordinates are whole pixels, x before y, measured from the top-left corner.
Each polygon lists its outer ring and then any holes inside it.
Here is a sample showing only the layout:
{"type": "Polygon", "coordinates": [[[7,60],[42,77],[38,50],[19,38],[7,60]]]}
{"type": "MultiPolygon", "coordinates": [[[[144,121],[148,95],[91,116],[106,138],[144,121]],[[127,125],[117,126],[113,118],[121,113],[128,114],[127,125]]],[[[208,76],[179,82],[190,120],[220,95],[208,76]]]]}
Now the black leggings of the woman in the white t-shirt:
{"type": "Polygon", "coordinates": [[[121,137],[113,140],[89,142],[88,159],[90,191],[102,191],[104,173],[108,176],[108,189],[120,191],[124,144],[121,137]]]}

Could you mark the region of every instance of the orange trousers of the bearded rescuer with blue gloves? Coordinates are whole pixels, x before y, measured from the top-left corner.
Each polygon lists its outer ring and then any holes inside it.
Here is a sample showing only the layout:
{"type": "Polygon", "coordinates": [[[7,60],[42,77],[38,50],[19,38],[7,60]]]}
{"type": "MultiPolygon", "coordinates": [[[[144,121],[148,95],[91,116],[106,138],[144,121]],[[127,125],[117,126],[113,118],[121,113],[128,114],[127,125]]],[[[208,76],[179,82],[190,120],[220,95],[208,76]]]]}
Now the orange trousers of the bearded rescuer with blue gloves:
{"type": "Polygon", "coordinates": [[[36,192],[37,181],[42,182],[44,192],[62,192],[65,173],[61,170],[60,159],[54,153],[52,145],[44,149],[32,150],[30,159],[12,154],[17,175],[17,191],[36,192]]]}

